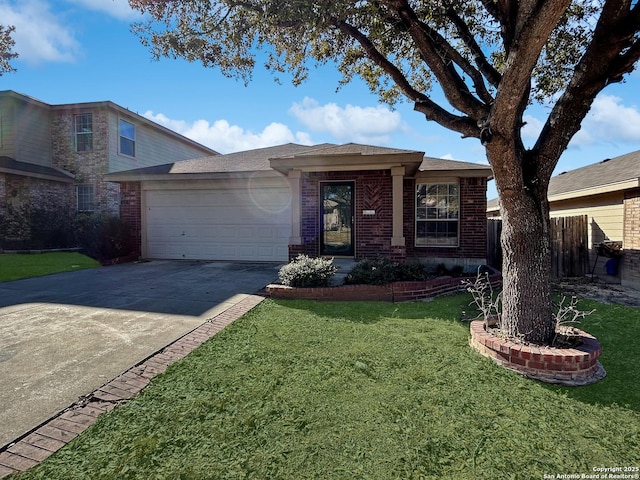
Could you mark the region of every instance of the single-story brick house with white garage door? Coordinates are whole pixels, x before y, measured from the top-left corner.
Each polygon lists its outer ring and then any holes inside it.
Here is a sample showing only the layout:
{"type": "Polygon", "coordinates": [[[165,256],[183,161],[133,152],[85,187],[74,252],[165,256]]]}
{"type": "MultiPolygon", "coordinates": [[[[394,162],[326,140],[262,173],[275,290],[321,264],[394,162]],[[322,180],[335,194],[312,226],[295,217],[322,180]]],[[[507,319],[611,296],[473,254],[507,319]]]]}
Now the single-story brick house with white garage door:
{"type": "Polygon", "coordinates": [[[285,144],[107,175],[149,259],[299,253],[461,265],[486,259],[488,165],[368,145],[285,144]]]}

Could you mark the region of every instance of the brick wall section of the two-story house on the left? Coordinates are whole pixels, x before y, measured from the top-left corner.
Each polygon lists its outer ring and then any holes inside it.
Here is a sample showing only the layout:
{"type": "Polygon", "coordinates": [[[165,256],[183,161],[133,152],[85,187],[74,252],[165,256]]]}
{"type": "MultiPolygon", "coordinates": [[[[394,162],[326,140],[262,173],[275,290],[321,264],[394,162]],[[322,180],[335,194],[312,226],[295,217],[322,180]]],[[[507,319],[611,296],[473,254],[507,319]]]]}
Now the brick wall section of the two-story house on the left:
{"type": "Polygon", "coordinates": [[[55,112],[51,122],[53,165],[73,173],[76,185],[93,185],[97,212],[118,214],[118,184],[104,182],[109,172],[109,115],[106,110],[93,110],[93,151],[76,152],[74,118],[86,110],[55,112]]]}

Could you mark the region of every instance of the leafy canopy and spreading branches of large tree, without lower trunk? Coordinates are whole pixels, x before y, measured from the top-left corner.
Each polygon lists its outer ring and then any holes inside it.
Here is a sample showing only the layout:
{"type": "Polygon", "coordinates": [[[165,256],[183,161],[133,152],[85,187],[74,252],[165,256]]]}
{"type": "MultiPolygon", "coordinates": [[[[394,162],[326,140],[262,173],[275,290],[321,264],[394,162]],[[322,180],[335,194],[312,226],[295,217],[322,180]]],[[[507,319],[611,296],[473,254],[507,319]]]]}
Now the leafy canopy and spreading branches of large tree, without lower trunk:
{"type": "MultiPolygon", "coordinates": [[[[263,49],[266,68],[290,72],[294,83],[309,75],[310,60],[336,62],[343,82],[360,76],[381,100],[414,102],[429,120],[478,138],[503,95],[513,104],[512,132],[536,100],[558,106],[550,127],[558,110],[590,104],[640,55],[640,7],[629,0],[130,3],[152,14],[135,31],[157,57],[200,61],[246,81],[263,49]],[[435,84],[449,105],[434,102],[435,84]]],[[[575,127],[547,128],[543,138],[566,138],[575,127]]]]}

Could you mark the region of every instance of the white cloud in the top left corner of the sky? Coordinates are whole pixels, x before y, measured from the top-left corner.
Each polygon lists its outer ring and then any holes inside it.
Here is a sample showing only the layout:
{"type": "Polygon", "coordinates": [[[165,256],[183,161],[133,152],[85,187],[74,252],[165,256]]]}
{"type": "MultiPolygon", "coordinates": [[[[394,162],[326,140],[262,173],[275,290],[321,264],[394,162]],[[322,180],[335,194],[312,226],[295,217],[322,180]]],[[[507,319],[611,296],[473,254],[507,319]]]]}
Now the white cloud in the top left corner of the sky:
{"type": "Polygon", "coordinates": [[[73,62],[80,51],[73,31],[51,12],[46,2],[0,0],[0,19],[3,25],[16,27],[13,50],[21,61],[32,65],[73,62]]]}

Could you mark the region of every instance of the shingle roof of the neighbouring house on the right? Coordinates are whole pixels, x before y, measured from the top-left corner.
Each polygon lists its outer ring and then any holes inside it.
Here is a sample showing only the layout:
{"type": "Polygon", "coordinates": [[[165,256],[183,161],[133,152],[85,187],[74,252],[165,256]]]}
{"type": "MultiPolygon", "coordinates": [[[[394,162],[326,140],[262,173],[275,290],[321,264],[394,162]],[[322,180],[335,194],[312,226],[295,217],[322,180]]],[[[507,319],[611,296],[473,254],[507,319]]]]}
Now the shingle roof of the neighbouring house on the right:
{"type": "Polygon", "coordinates": [[[640,179],[640,150],[556,175],[549,196],[640,179]]]}

